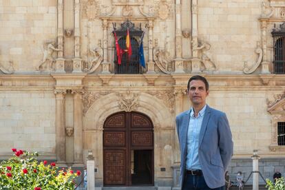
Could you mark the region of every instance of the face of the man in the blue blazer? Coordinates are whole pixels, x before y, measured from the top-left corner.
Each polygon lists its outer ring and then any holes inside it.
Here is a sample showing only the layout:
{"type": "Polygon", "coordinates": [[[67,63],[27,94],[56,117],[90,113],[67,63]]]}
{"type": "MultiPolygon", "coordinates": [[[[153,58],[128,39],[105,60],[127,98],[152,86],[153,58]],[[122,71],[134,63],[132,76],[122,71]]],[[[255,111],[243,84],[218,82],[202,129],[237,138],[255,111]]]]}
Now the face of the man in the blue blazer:
{"type": "Polygon", "coordinates": [[[203,81],[193,80],[189,84],[188,96],[193,105],[205,105],[209,90],[203,81]]]}

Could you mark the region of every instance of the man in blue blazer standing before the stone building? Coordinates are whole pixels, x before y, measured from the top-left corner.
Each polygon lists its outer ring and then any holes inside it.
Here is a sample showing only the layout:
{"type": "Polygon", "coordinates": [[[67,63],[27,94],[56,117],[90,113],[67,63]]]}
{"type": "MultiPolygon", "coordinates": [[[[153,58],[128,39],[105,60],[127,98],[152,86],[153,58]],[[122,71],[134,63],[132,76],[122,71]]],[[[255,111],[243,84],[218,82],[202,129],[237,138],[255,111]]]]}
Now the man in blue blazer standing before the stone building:
{"type": "Polygon", "coordinates": [[[189,79],[187,95],[192,107],[176,117],[182,190],[224,189],[224,173],[233,155],[226,114],[206,104],[209,83],[202,76],[189,79]]]}

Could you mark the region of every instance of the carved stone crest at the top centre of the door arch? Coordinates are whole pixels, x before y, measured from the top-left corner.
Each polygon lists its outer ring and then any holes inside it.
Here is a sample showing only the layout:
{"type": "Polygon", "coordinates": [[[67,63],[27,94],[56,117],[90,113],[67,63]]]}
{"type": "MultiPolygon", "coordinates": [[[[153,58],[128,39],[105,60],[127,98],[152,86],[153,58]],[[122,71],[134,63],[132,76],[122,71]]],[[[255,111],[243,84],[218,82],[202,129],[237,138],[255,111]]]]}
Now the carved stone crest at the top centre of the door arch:
{"type": "Polygon", "coordinates": [[[117,93],[118,105],[125,112],[131,112],[138,108],[138,94],[127,91],[126,94],[117,93]]]}

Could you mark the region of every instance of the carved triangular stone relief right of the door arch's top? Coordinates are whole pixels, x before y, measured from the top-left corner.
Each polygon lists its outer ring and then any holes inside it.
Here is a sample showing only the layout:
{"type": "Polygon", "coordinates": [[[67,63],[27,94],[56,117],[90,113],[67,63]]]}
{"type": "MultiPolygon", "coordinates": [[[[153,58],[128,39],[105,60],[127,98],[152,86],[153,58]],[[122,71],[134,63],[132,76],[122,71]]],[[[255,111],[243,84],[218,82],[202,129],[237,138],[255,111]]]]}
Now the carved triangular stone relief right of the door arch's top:
{"type": "Polygon", "coordinates": [[[146,92],[151,96],[156,96],[156,98],[160,99],[163,103],[165,103],[166,107],[168,107],[171,111],[173,111],[173,107],[175,104],[175,96],[172,90],[166,91],[156,91],[156,92],[146,92]]]}

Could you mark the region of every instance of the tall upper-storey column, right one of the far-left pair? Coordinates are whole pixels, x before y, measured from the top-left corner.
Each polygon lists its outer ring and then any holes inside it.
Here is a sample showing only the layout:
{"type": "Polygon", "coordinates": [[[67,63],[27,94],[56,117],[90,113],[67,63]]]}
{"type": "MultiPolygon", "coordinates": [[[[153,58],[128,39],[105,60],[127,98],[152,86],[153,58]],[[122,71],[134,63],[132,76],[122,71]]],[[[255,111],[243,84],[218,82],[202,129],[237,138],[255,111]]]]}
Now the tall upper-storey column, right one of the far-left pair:
{"type": "Polygon", "coordinates": [[[82,59],[80,58],[80,0],[74,1],[74,59],[72,73],[82,72],[82,59]]]}

